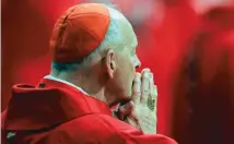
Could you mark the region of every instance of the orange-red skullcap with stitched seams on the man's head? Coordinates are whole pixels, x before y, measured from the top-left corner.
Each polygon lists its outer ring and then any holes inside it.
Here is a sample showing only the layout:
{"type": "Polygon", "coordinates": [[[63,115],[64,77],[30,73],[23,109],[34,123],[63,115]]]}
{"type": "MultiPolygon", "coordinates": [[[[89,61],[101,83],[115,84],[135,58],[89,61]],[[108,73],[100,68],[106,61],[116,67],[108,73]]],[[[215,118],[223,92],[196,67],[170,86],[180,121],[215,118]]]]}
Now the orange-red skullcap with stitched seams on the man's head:
{"type": "Polygon", "coordinates": [[[68,9],[52,29],[49,44],[52,61],[66,63],[83,59],[103,41],[109,22],[108,10],[101,3],[68,9]]]}

